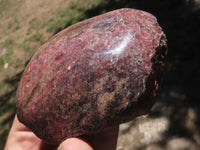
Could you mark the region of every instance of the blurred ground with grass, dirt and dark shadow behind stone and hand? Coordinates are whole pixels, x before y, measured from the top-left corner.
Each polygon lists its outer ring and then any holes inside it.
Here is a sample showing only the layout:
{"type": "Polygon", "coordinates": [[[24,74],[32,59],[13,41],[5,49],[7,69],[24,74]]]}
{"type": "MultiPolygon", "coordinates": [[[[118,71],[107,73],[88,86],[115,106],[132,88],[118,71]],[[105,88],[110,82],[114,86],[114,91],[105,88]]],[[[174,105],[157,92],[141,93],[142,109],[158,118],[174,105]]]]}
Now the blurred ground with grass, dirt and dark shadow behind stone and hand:
{"type": "Polygon", "coordinates": [[[156,104],[120,126],[117,150],[200,149],[200,0],[0,0],[0,149],[20,77],[36,50],[67,26],[125,7],[154,14],[169,51],[156,104]]]}

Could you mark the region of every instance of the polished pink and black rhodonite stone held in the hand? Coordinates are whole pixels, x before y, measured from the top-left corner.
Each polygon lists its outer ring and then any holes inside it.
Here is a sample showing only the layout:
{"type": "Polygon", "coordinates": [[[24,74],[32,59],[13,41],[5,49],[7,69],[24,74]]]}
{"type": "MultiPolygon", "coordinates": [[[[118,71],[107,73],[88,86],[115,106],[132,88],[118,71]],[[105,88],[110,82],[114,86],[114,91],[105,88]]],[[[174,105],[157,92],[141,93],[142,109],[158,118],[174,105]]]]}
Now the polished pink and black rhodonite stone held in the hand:
{"type": "Polygon", "coordinates": [[[28,64],[17,91],[18,118],[58,144],[146,114],[166,49],[156,18],[144,11],[119,9],[68,27],[28,64]]]}

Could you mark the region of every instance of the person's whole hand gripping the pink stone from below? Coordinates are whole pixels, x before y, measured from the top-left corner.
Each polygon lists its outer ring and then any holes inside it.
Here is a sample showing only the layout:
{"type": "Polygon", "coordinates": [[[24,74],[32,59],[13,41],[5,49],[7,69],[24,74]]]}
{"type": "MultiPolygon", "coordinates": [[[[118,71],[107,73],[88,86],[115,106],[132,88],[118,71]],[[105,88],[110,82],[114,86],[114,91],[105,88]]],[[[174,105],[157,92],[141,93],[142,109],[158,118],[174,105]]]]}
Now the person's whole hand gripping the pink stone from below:
{"type": "MultiPolygon", "coordinates": [[[[61,143],[59,150],[115,150],[118,127],[98,134],[69,138],[61,143]],[[86,142],[90,142],[88,144],[86,142]]],[[[31,130],[19,122],[17,116],[13,121],[5,150],[56,150],[57,145],[48,145],[39,139],[31,130]]]]}

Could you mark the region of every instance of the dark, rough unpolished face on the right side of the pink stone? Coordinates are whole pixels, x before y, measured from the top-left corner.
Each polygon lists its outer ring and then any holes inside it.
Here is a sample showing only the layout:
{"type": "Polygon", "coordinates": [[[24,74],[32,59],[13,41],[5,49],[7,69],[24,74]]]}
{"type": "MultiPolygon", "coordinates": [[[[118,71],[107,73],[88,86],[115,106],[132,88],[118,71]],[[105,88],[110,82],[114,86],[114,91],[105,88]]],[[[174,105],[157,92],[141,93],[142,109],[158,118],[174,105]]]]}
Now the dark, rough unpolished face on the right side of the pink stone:
{"type": "Polygon", "coordinates": [[[156,95],[161,88],[163,80],[163,74],[166,67],[167,51],[167,38],[164,32],[161,32],[159,44],[155,48],[154,57],[151,59],[152,70],[146,81],[146,91],[140,98],[143,103],[141,105],[141,110],[143,110],[143,112],[139,115],[146,115],[155,103],[156,95]],[[147,98],[149,99],[147,100],[147,98]]]}

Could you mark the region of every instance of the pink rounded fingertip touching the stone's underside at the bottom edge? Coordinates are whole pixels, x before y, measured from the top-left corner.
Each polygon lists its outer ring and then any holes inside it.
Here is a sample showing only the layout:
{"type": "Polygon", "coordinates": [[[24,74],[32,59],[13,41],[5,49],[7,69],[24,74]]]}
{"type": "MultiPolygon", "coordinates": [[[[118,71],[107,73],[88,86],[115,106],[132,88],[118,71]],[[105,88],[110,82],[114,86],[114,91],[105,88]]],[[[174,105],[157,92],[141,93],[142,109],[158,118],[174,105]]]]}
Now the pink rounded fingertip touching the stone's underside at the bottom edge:
{"type": "Polygon", "coordinates": [[[94,149],[82,139],[69,138],[60,144],[58,150],[94,150],[94,149]]]}

